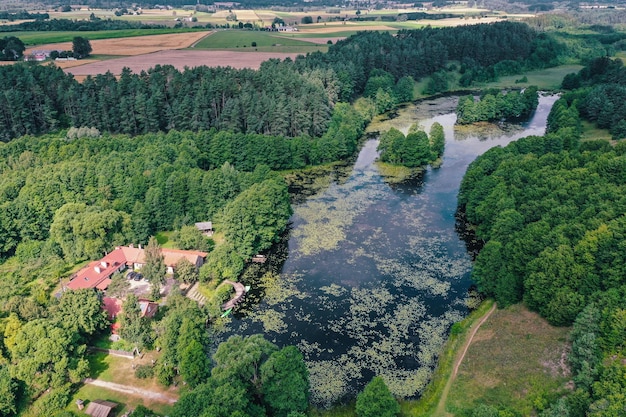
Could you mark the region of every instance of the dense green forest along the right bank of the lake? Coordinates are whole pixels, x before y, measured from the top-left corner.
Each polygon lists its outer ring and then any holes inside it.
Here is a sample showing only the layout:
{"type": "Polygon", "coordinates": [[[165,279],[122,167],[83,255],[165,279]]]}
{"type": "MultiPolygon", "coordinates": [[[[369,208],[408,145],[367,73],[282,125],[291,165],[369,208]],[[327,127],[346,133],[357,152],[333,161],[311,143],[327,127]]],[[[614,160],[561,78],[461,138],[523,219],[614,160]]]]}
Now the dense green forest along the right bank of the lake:
{"type": "Polygon", "coordinates": [[[479,289],[501,307],[523,300],[555,325],[574,323],[575,390],[542,417],[623,414],[626,143],[580,141],[581,117],[600,125],[590,104],[621,74],[599,58],[566,77],[586,86],[555,104],[547,134],[487,151],[459,193],[484,242],[472,272],[479,289]]]}

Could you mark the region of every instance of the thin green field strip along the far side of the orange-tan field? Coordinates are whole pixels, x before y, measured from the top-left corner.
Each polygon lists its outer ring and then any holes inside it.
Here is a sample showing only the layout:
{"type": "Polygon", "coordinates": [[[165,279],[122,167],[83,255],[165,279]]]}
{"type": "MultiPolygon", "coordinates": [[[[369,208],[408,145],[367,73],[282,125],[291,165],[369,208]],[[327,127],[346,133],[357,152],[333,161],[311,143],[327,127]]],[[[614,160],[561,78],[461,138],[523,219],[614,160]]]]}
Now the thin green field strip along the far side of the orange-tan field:
{"type": "MultiPolygon", "coordinates": [[[[202,29],[205,30],[206,29],[202,29]]],[[[85,32],[12,32],[24,42],[26,46],[46,45],[50,43],[71,42],[75,36],[82,36],[90,41],[98,39],[131,38],[148,35],[168,35],[172,33],[197,32],[196,29],[125,29],[125,30],[102,30],[85,32]]]]}

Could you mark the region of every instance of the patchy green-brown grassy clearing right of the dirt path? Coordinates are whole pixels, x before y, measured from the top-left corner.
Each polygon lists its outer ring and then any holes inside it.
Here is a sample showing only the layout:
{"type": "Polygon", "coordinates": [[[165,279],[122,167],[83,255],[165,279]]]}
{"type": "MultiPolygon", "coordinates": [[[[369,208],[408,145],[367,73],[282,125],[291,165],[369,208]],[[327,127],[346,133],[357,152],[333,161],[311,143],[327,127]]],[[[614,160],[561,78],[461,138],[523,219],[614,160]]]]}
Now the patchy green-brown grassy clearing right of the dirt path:
{"type": "Polygon", "coordinates": [[[569,330],[519,304],[495,311],[476,333],[446,409],[459,413],[487,404],[532,415],[565,389],[569,330]]]}

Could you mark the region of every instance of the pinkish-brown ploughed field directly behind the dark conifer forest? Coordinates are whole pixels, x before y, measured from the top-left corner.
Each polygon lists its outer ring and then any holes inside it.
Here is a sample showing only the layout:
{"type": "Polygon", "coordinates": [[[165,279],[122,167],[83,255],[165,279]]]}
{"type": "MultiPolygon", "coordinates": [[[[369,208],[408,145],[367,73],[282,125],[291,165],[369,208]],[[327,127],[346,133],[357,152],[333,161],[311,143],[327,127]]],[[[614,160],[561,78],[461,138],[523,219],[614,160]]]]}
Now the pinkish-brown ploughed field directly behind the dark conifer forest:
{"type": "Polygon", "coordinates": [[[128,67],[133,72],[148,70],[155,65],[173,65],[178,69],[184,67],[209,67],[231,66],[233,68],[257,69],[261,62],[270,58],[285,59],[295,58],[297,53],[273,53],[273,52],[238,52],[238,51],[159,51],[152,54],[129,56],[123,58],[97,61],[86,65],[68,68],[66,71],[74,74],[78,79],[81,76],[104,74],[110,71],[113,74],[121,74],[122,68],[128,67]]]}

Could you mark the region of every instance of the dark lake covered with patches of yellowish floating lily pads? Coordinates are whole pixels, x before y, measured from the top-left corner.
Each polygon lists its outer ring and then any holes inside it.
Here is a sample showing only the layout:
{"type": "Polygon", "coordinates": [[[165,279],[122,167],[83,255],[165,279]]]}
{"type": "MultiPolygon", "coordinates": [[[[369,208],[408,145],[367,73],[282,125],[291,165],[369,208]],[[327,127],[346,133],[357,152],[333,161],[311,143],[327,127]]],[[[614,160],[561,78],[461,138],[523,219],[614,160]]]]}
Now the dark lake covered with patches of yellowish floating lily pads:
{"type": "MultiPolygon", "coordinates": [[[[398,397],[424,389],[450,326],[468,311],[471,260],[455,231],[467,166],[493,146],[542,135],[556,96],[533,118],[502,128],[454,128],[457,97],[424,101],[371,128],[444,126],[443,164],[410,183],[387,184],[367,141],[351,172],[294,207],[280,276],[263,298],[225,320],[218,339],[264,333],[303,352],[318,406],[353,397],[374,375],[398,397]]],[[[254,300],[254,297],[252,297],[254,300]]]]}

